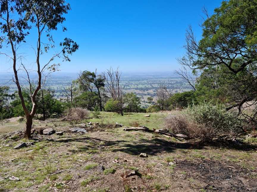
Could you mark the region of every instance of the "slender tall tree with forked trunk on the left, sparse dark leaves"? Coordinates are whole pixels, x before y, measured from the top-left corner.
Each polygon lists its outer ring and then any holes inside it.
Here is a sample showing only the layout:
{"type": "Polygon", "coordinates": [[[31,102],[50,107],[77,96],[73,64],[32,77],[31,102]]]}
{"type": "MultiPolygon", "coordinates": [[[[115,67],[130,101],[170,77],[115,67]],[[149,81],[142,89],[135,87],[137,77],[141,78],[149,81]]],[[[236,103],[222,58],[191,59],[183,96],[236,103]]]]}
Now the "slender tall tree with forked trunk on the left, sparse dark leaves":
{"type": "MultiPolygon", "coordinates": [[[[62,61],[70,61],[69,55],[79,47],[72,39],[65,38],[59,43],[59,50],[53,51],[54,53],[47,62],[43,63],[41,61],[43,53],[48,53],[50,49],[56,48],[51,34],[53,31],[57,31],[58,25],[65,21],[64,15],[70,10],[70,4],[64,0],[0,0],[0,6],[0,48],[4,47],[4,49],[1,49],[1,54],[9,57],[12,62],[13,81],[17,86],[22,108],[26,115],[24,137],[29,138],[31,136],[32,119],[37,109],[37,93],[44,84],[47,74],[55,71],[60,65],[59,63],[53,63],[53,61],[58,58],[62,61]],[[25,55],[22,55],[19,51],[27,39],[33,39],[31,35],[33,33],[37,34],[34,42],[36,47],[33,48],[36,63],[35,71],[37,73],[35,90],[32,89],[32,79],[29,75],[33,69],[24,64],[24,61],[26,62],[24,60],[25,55]],[[10,55],[9,52],[11,52],[10,55]],[[18,73],[19,69],[23,69],[26,73],[32,110],[28,110],[24,102],[19,81],[21,78],[21,75],[18,73]]],[[[65,27],[62,27],[62,31],[65,32],[66,30],[65,27]]]]}

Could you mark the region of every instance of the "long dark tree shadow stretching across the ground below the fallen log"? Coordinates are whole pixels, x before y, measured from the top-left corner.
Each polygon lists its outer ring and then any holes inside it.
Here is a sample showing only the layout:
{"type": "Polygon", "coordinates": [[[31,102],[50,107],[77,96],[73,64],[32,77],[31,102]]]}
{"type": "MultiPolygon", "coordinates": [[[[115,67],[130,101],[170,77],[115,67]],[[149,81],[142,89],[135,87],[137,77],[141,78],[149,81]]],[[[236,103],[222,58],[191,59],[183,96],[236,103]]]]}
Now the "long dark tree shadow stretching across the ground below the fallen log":
{"type": "MultiPolygon", "coordinates": [[[[139,155],[140,153],[147,153],[149,155],[157,155],[158,153],[173,153],[176,149],[203,149],[206,146],[199,146],[198,143],[176,143],[167,141],[165,139],[153,138],[151,140],[147,139],[138,139],[135,141],[127,141],[127,140],[102,140],[93,137],[63,137],[58,140],[51,140],[51,142],[57,143],[70,143],[70,142],[82,142],[87,143],[88,145],[82,145],[76,151],[72,152],[82,152],[88,150],[109,150],[112,152],[122,151],[125,153],[129,153],[131,155],[139,155]]],[[[236,150],[256,150],[256,145],[248,145],[248,144],[233,144],[228,142],[213,142],[209,143],[208,146],[212,146],[214,148],[229,148],[236,150]]]]}

